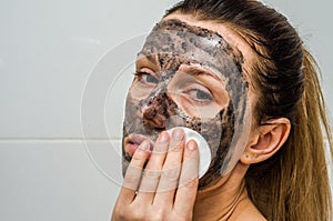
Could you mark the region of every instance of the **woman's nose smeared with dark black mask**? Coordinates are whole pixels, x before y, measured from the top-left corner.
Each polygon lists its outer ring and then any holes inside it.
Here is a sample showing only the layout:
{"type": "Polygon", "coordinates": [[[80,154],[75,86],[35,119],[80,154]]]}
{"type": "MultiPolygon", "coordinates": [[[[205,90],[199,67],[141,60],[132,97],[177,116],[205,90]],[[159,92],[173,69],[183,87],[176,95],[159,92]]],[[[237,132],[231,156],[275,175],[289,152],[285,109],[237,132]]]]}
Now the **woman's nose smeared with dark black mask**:
{"type": "Polygon", "coordinates": [[[143,108],[143,123],[152,128],[165,129],[165,122],[169,118],[168,102],[170,99],[165,93],[159,93],[150,99],[143,108]]]}

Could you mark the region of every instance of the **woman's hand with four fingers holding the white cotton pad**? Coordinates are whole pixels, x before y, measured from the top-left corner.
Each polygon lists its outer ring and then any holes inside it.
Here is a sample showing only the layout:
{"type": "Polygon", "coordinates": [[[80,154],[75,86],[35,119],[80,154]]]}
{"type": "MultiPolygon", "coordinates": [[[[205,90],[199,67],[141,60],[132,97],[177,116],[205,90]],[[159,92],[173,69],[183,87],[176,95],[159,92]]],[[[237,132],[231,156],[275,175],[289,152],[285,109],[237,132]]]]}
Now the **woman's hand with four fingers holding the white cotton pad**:
{"type": "Polygon", "coordinates": [[[152,152],[150,142],[143,141],[127,170],[111,221],[192,220],[198,173],[196,142],[185,144],[181,129],[171,138],[162,132],[152,152]]]}

